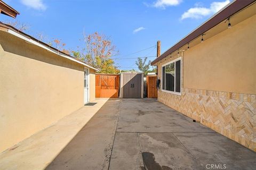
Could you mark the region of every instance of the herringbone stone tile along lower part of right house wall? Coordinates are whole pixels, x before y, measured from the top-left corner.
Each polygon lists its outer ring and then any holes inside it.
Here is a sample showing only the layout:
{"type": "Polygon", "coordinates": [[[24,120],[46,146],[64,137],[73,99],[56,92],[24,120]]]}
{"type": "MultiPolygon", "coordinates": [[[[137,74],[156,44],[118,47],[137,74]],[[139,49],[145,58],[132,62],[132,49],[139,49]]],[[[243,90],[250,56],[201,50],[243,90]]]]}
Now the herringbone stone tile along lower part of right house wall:
{"type": "Polygon", "coordinates": [[[256,151],[256,95],[182,88],[181,96],[158,90],[158,100],[256,151]]]}

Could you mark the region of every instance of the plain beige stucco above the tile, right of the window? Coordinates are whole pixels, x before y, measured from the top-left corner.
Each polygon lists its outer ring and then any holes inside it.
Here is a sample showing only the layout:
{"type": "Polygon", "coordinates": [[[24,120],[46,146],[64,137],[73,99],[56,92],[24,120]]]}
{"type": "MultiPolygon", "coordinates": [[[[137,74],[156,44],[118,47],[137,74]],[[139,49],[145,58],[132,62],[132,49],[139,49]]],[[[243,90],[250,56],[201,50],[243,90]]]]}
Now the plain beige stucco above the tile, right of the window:
{"type": "Polygon", "coordinates": [[[256,94],[255,23],[256,15],[186,50],[184,88],[256,94]]]}

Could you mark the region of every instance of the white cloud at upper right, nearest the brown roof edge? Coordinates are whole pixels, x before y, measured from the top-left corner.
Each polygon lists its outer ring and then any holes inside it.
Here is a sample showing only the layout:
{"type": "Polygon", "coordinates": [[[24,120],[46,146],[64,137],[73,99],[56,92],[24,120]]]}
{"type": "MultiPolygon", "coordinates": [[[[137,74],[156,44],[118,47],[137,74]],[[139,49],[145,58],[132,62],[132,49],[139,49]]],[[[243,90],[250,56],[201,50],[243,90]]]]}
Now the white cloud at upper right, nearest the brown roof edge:
{"type": "Polygon", "coordinates": [[[181,20],[186,18],[201,19],[203,18],[203,16],[218,12],[219,10],[221,10],[222,7],[226,6],[229,3],[229,0],[223,2],[213,2],[211,3],[209,8],[199,7],[198,5],[196,5],[196,7],[190,8],[188,11],[183,13],[181,16],[181,20]]]}

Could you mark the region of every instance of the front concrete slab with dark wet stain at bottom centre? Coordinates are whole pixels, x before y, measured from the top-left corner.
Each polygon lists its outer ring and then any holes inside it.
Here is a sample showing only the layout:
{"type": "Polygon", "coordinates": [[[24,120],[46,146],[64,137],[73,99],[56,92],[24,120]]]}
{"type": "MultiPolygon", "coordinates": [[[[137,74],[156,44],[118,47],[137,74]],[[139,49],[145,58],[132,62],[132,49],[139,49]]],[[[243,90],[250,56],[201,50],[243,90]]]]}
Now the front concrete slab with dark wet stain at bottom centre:
{"type": "Polygon", "coordinates": [[[172,133],[139,133],[148,170],[204,169],[172,133]]]}

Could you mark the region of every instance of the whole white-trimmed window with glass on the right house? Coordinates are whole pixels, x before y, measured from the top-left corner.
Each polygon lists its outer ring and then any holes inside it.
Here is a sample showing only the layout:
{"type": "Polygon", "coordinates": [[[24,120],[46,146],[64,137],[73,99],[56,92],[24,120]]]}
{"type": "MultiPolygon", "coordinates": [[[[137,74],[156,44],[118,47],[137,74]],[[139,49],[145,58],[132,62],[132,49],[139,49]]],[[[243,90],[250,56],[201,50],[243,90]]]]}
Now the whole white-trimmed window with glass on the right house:
{"type": "Polygon", "coordinates": [[[181,58],[162,66],[162,90],[181,95],[181,58]]]}

